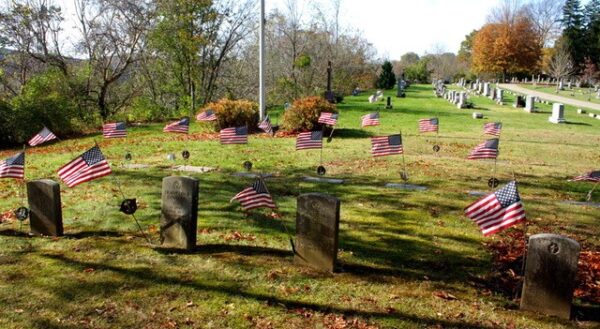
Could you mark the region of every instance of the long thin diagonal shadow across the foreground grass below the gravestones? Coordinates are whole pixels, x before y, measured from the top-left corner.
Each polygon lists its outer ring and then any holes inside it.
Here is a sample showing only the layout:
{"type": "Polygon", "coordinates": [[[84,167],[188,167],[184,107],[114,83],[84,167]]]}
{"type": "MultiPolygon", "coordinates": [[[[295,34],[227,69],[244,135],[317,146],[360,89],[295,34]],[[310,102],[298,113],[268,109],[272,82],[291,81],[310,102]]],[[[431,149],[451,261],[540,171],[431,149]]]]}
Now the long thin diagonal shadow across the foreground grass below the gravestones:
{"type": "MultiPolygon", "coordinates": [[[[479,323],[469,323],[466,321],[452,321],[446,319],[440,319],[432,316],[416,316],[414,314],[407,314],[400,311],[394,312],[377,312],[377,311],[363,311],[355,310],[352,308],[344,308],[339,306],[322,305],[312,302],[305,302],[293,299],[286,299],[278,296],[271,296],[268,294],[244,291],[239,286],[228,286],[228,285],[216,285],[209,283],[198,282],[197,280],[185,280],[172,276],[165,276],[160,273],[156,273],[151,268],[122,268],[118,266],[108,265],[105,263],[96,263],[89,261],[79,261],[68,258],[64,255],[51,255],[43,254],[44,258],[52,259],[54,261],[62,263],[64,266],[73,267],[76,269],[94,268],[96,271],[110,271],[125,277],[127,280],[140,280],[150,285],[162,284],[162,285],[176,285],[185,288],[191,288],[203,292],[215,292],[219,294],[227,294],[245,299],[253,299],[266,303],[273,307],[282,307],[286,310],[294,309],[308,309],[315,312],[322,313],[336,313],[342,314],[347,317],[360,316],[364,318],[378,318],[378,319],[399,319],[404,321],[410,321],[418,324],[428,325],[442,325],[444,328],[467,328],[467,329],[483,329],[492,328],[490,326],[482,325],[479,323]]],[[[104,285],[103,291],[106,293],[109,290],[117,292],[120,285],[113,285],[111,287],[106,286],[106,282],[98,283],[98,285],[104,285]]],[[[93,287],[87,287],[88,290],[94,291],[93,287]]],[[[96,288],[97,289],[97,288],[96,288]]],[[[71,284],[61,285],[56,287],[55,292],[62,294],[64,297],[69,297],[73,294],[77,294],[81,290],[78,283],[72,282],[71,284]]]]}

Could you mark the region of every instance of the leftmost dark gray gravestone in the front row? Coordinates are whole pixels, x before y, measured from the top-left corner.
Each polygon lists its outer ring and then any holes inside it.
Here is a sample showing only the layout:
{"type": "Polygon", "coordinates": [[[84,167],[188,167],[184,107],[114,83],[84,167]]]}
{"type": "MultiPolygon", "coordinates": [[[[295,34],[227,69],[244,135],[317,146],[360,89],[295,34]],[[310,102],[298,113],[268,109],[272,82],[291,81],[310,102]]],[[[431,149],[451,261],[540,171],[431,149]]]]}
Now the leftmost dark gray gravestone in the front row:
{"type": "Polygon", "coordinates": [[[62,236],[60,186],[50,179],[27,182],[31,233],[62,236]]]}

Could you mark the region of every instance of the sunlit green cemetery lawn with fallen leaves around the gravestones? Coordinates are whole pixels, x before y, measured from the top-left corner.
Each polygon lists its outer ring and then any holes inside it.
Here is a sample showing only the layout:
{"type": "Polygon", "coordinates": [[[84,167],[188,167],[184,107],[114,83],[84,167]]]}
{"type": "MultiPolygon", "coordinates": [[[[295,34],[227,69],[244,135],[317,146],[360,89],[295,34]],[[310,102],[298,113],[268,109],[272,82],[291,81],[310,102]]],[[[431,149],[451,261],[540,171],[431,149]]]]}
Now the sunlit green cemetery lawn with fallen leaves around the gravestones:
{"type": "MultiPolygon", "coordinates": [[[[386,95],[395,95],[394,91],[386,95]]],[[[58,180],[56,170],[97,141],[114,174],[67,188],[61,183],[65,236],[28,237],[10,211],[21,205],[14,180],[0,180],[0,328],[568,328],[597,326],[592,298],[575,300],[578,321],[567,322],[518,310],[516,269],[500,268],[489,245],[511,247],[527,235],[569,236],[585,252],[600,251],[598,208],[585,201],[591,183],[567,179],[597,168],[600,120],[567,106],[569,124],[548,122],[550,106],[528,114],[474,97],[484,120],[435,98],[431,86],[412,86],[394,109],[369,104],[368,94],[348,96],[331,143],[324,143],[328,176],[346,184],[314,184],[319,151],[294,151],[295,138],[251,136],[247,146],[220,146],[208,125],[193,123],[191,134],[162,132],[164,123],[129,128],[126,140],[91,134],[27,152],[28,179],[58,180]],[[381,113],[381,126],[360,129],[360,116],[381,113]],[[440,135],[419,135],[418,119],[438,116],[440,135]],[[484,122],[502,121],[496,174],[504,184],[516,177],[527,225],[484,238],[465,218],[476,200],[467,191],[487,190],[493,162],[465,160],[482,142],[484,122]],[[373,159],[369,137],[402,131],[410,183],[425,192],[385,188],[401,182],[401,156],[373,159]],[[441,146],[439,156],[432,147],[441,146]],[[171,174],[175,153],[191,153],[189,165],[216,170],[192,174],[200,180],[198,247],[177,253],[152,247],[122,200],[137,198],[136,213],[158,243],[161,180],[171,174]],[[71,154],[70,150],[73,151],[71,154]],[[131,163],[149,169],[120,167],[131,163]],[[231,176],[250,160],[255,171],[272,173],[267,185],[277,215],[259,210],[245,216],[229,200],[252,183],[231,176]],[[320,274],[295,266],[288,235],[295,232],[296,197],[322,192],[341,199],[339,271],[320,274]],[[511,278],[511,276],[513,278],[511,278]]],[[[507,95],[506,104],[512,104],[507,95]]],[[[274,123],[282,110],[273,110],[274,123]]],[[[4,159],[16,150],[0,152],[4,159]]],[[[592,201],[600,202],[600,191],[592,201]]],[[[498,249],[496,249],[498,250],[498,249]]],[[[597,274],[597,273],[596,273],[597,274]]],[[[600,290],[596,282],[595,289],[600,290]]],[[[598,291],[597,290],[597,291],[598,291]]],[[[597,292],[596,291],[596,292],[597,292]]],[[[588,296],[589,297],[589,296],[588,296]]]]}

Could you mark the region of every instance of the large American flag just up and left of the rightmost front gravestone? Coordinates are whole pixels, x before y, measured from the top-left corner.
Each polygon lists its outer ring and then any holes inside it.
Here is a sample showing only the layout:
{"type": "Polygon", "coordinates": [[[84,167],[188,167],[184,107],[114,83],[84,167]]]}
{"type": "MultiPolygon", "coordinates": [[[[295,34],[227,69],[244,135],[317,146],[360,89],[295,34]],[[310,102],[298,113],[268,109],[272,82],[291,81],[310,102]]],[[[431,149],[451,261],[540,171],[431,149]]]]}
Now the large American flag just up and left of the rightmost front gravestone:
{"type": "Polygon", "coordinates": [[[517,182],[512,181],[495,193],[488,194],[465,208],[484,236],[509,228],[525,220],[525,209],[519,197],[517,182]]]}

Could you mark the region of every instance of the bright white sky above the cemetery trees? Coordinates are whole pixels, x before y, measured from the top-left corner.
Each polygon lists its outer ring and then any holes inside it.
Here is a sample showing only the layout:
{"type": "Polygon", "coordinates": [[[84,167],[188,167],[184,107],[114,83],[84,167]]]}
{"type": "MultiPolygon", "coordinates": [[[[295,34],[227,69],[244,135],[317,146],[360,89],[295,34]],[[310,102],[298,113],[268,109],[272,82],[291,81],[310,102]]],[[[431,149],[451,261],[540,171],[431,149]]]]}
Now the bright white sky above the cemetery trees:
{"type": "MultiPolygon", "coordinates": [[[[275,8],[282,9],[287,1],[293,0],[265,0],[265,9],[267,13],[275,8]]],[[[296,1],[305,20],[310,19],[312,6],[330,8],[332,2],[296,1]]],[[[480,28],[490,10],[501,0],[340,1],[342,27],[358,30],[373,44],[380,57],[396,60],[409,51],[419,55],[440,49],[458,52],[465,36],[480,28]]],[[[76,20],[73,0],[56,0],[56,3],[63,7],[68,30],[76,20]]]]}

